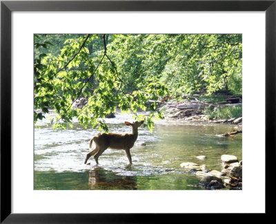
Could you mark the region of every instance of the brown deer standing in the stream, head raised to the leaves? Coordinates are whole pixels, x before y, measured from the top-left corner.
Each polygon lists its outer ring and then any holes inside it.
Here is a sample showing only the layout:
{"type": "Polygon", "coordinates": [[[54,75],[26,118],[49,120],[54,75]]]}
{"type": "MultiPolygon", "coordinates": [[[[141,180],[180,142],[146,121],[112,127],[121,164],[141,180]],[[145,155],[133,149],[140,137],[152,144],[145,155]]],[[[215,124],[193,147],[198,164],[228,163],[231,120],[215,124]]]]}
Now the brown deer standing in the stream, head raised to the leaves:
{"type": "Polygon", "coordinates": [[[106,149],[124,149],[126,151],[126,156],[128,156],[129,166],[132,165],[132,159],[130,155],[130,149],[133,147],[135,141],[138,138],[138,128],[141,124],[144,124],[144,120],[136,121],[136,122],[125,122],[127,126],[132,127],[132,133],[97,133],[97,135],[93,136],[89,142],[89,149],[92,150],[87,154],[86,160],[84,164],[86,164],[87,160],[94,156],[97,165],[99,165],[98,159],[99,156],[106,149]],[[92,149],[92,143],[93,149],[92,149]]]}

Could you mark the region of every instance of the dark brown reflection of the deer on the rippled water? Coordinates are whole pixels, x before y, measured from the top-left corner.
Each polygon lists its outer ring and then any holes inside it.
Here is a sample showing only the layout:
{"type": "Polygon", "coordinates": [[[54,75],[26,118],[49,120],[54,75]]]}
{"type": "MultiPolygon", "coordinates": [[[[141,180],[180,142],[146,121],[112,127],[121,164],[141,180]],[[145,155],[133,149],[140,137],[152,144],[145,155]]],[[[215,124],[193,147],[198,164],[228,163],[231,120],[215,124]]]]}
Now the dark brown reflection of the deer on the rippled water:
{"type": "Polygon", "coordinates": [[[136,176],[119,176],[101,167],[88,172],[90,189],[137,189],[136,176]]]}

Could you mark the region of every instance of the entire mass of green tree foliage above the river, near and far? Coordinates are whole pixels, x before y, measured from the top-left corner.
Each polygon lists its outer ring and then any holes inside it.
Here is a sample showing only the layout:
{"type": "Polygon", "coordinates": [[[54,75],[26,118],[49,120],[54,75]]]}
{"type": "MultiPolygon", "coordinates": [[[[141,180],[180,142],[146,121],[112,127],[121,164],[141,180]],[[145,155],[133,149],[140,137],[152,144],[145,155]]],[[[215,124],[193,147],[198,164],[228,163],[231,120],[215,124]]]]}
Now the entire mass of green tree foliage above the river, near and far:
{"type": "Polygon", "coordinates": [[[34,122],[53,109],[54,128],[76,117],[108,131],[103,118],[119,107],[152,130],[166,93],[223,89],[242,93],[242,35],[34,35],[34,122]]]}

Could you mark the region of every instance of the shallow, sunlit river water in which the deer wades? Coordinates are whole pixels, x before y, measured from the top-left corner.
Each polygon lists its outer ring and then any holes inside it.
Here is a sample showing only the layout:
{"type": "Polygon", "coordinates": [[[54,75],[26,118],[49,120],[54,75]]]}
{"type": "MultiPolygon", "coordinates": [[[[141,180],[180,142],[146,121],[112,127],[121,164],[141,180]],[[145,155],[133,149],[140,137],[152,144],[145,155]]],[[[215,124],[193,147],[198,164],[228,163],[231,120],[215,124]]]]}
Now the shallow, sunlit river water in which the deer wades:
{"type": "MultiPolygon", "coordinates": [[[[131,115],[116,114],[106,119],[110,132],[129,133],[124,124],[131,115]]],[[[88,143],[99,131],[83,129],[74,123],[72,129],[53,131],[46,121],[34,129],[34,189],[204,189],[200,177],[180,167],[181,162],[206,164],[221,170],[220,156],[235,155],[242,160],[242,135],[231,138],[217,136],[232,130],[232,124],[177,122],[161,120],[150,133],[139,128],[137,142],[130,153],[132,167],[123,150],[107,149],[99,157],[99,165],[90,158],[88,143]],[[205,160],[196,156],[204,155],[205,160]]]]}

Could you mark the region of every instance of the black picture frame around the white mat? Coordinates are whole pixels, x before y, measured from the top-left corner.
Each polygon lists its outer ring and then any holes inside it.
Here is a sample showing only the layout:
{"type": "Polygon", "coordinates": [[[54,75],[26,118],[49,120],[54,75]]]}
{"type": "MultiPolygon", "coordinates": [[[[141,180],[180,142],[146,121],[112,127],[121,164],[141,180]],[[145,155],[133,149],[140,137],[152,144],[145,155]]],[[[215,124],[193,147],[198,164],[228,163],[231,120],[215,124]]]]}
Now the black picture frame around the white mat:
{"type": "MultiPolygon", "coordinates": [[[[11,13],[12,11],[265,11],[266,12],[266,214],[275,193],[268,176],[276,149],[276,0],[271,1],[1,1],[1,223],[162,223],[182,214],[11,213],[11,13]]],[[[263,183],[262,183],[263,184],[263,183]]],[[[255,186],[256,187],[256,186],[255,186]]],[[[28,203],[28,202],[26,202],[28,203]]],[[[126,202],[127,203],[127,202],[126,202]]],[[[130,205],[131,206],[131,205],[130,205]]],[[[175,219],[177,220],[177,219],[175,219]]]]}

